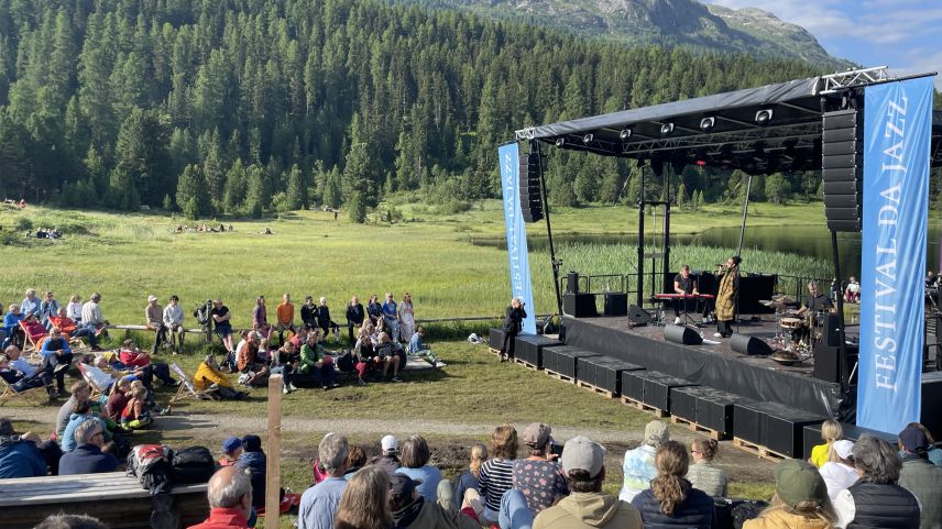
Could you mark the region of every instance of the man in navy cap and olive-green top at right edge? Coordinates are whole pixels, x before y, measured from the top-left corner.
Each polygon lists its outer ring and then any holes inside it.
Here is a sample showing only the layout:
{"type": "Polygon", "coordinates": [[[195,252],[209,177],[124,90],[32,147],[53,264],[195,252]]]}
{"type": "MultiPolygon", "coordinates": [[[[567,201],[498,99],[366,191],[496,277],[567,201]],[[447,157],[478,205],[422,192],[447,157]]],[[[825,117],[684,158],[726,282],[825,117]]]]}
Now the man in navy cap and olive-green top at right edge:
{"type": "Polygon", "coordinates": [[[902,470],[899,486],[912,493],[922,505],[920,529],[942,528],[942,467],[929,462],[929,438],[917,422],[899,432],[902,470]]]}

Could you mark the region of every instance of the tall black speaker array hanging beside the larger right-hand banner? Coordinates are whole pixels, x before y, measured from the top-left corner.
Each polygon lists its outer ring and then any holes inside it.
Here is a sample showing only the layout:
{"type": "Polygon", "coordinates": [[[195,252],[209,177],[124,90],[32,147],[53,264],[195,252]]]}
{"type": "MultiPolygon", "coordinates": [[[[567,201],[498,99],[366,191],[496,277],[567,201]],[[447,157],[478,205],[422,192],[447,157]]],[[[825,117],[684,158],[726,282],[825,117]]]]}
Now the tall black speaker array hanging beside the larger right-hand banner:
{"type": "Polygon", "coordinates": [[[863,112],[825,112],[821,136],[824,217],[831,231],[861,231],[863,218],[863,112]]]}

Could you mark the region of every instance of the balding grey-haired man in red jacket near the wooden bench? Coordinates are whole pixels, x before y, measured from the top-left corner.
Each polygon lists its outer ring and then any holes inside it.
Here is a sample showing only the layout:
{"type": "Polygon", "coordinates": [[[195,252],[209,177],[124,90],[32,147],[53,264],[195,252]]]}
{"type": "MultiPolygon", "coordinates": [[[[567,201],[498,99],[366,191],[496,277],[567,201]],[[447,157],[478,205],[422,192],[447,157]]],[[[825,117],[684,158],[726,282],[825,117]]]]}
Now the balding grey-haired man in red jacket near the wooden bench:
{"type": "Polygon", "coordinates": [[[188,529],[248,529],[252,508],[252,482],[237,466],[224,466],[212,474],[207,489],[209,518],[188,529]]]}

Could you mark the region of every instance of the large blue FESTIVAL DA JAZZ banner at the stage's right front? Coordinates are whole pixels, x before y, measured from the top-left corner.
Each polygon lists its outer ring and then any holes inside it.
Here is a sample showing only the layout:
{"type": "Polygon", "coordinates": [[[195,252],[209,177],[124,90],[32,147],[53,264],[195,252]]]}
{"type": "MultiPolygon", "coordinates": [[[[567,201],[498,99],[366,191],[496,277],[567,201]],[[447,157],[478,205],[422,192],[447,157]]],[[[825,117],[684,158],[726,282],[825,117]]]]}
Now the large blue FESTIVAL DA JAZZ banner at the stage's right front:
{"type": "Polygon", "coordinates": [[[932,77],[867,87],[857,425],[918,422],[932,77]]]}

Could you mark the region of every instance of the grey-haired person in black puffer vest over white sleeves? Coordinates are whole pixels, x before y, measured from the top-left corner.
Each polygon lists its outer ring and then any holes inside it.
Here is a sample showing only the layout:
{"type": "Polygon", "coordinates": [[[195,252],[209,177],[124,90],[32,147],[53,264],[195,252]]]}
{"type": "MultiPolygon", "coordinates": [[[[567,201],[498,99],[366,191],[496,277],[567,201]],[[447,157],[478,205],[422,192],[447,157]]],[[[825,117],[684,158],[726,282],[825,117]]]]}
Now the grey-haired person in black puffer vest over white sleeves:
{"type": "Polygon", "coordinates": [[[854,443],[854,466],[861,478],[837,493],[834,527],[919,527],[919,502],[912,493],[897,485],[902,463],[888,442],[872,436],[861,437],[854,443]]]}

